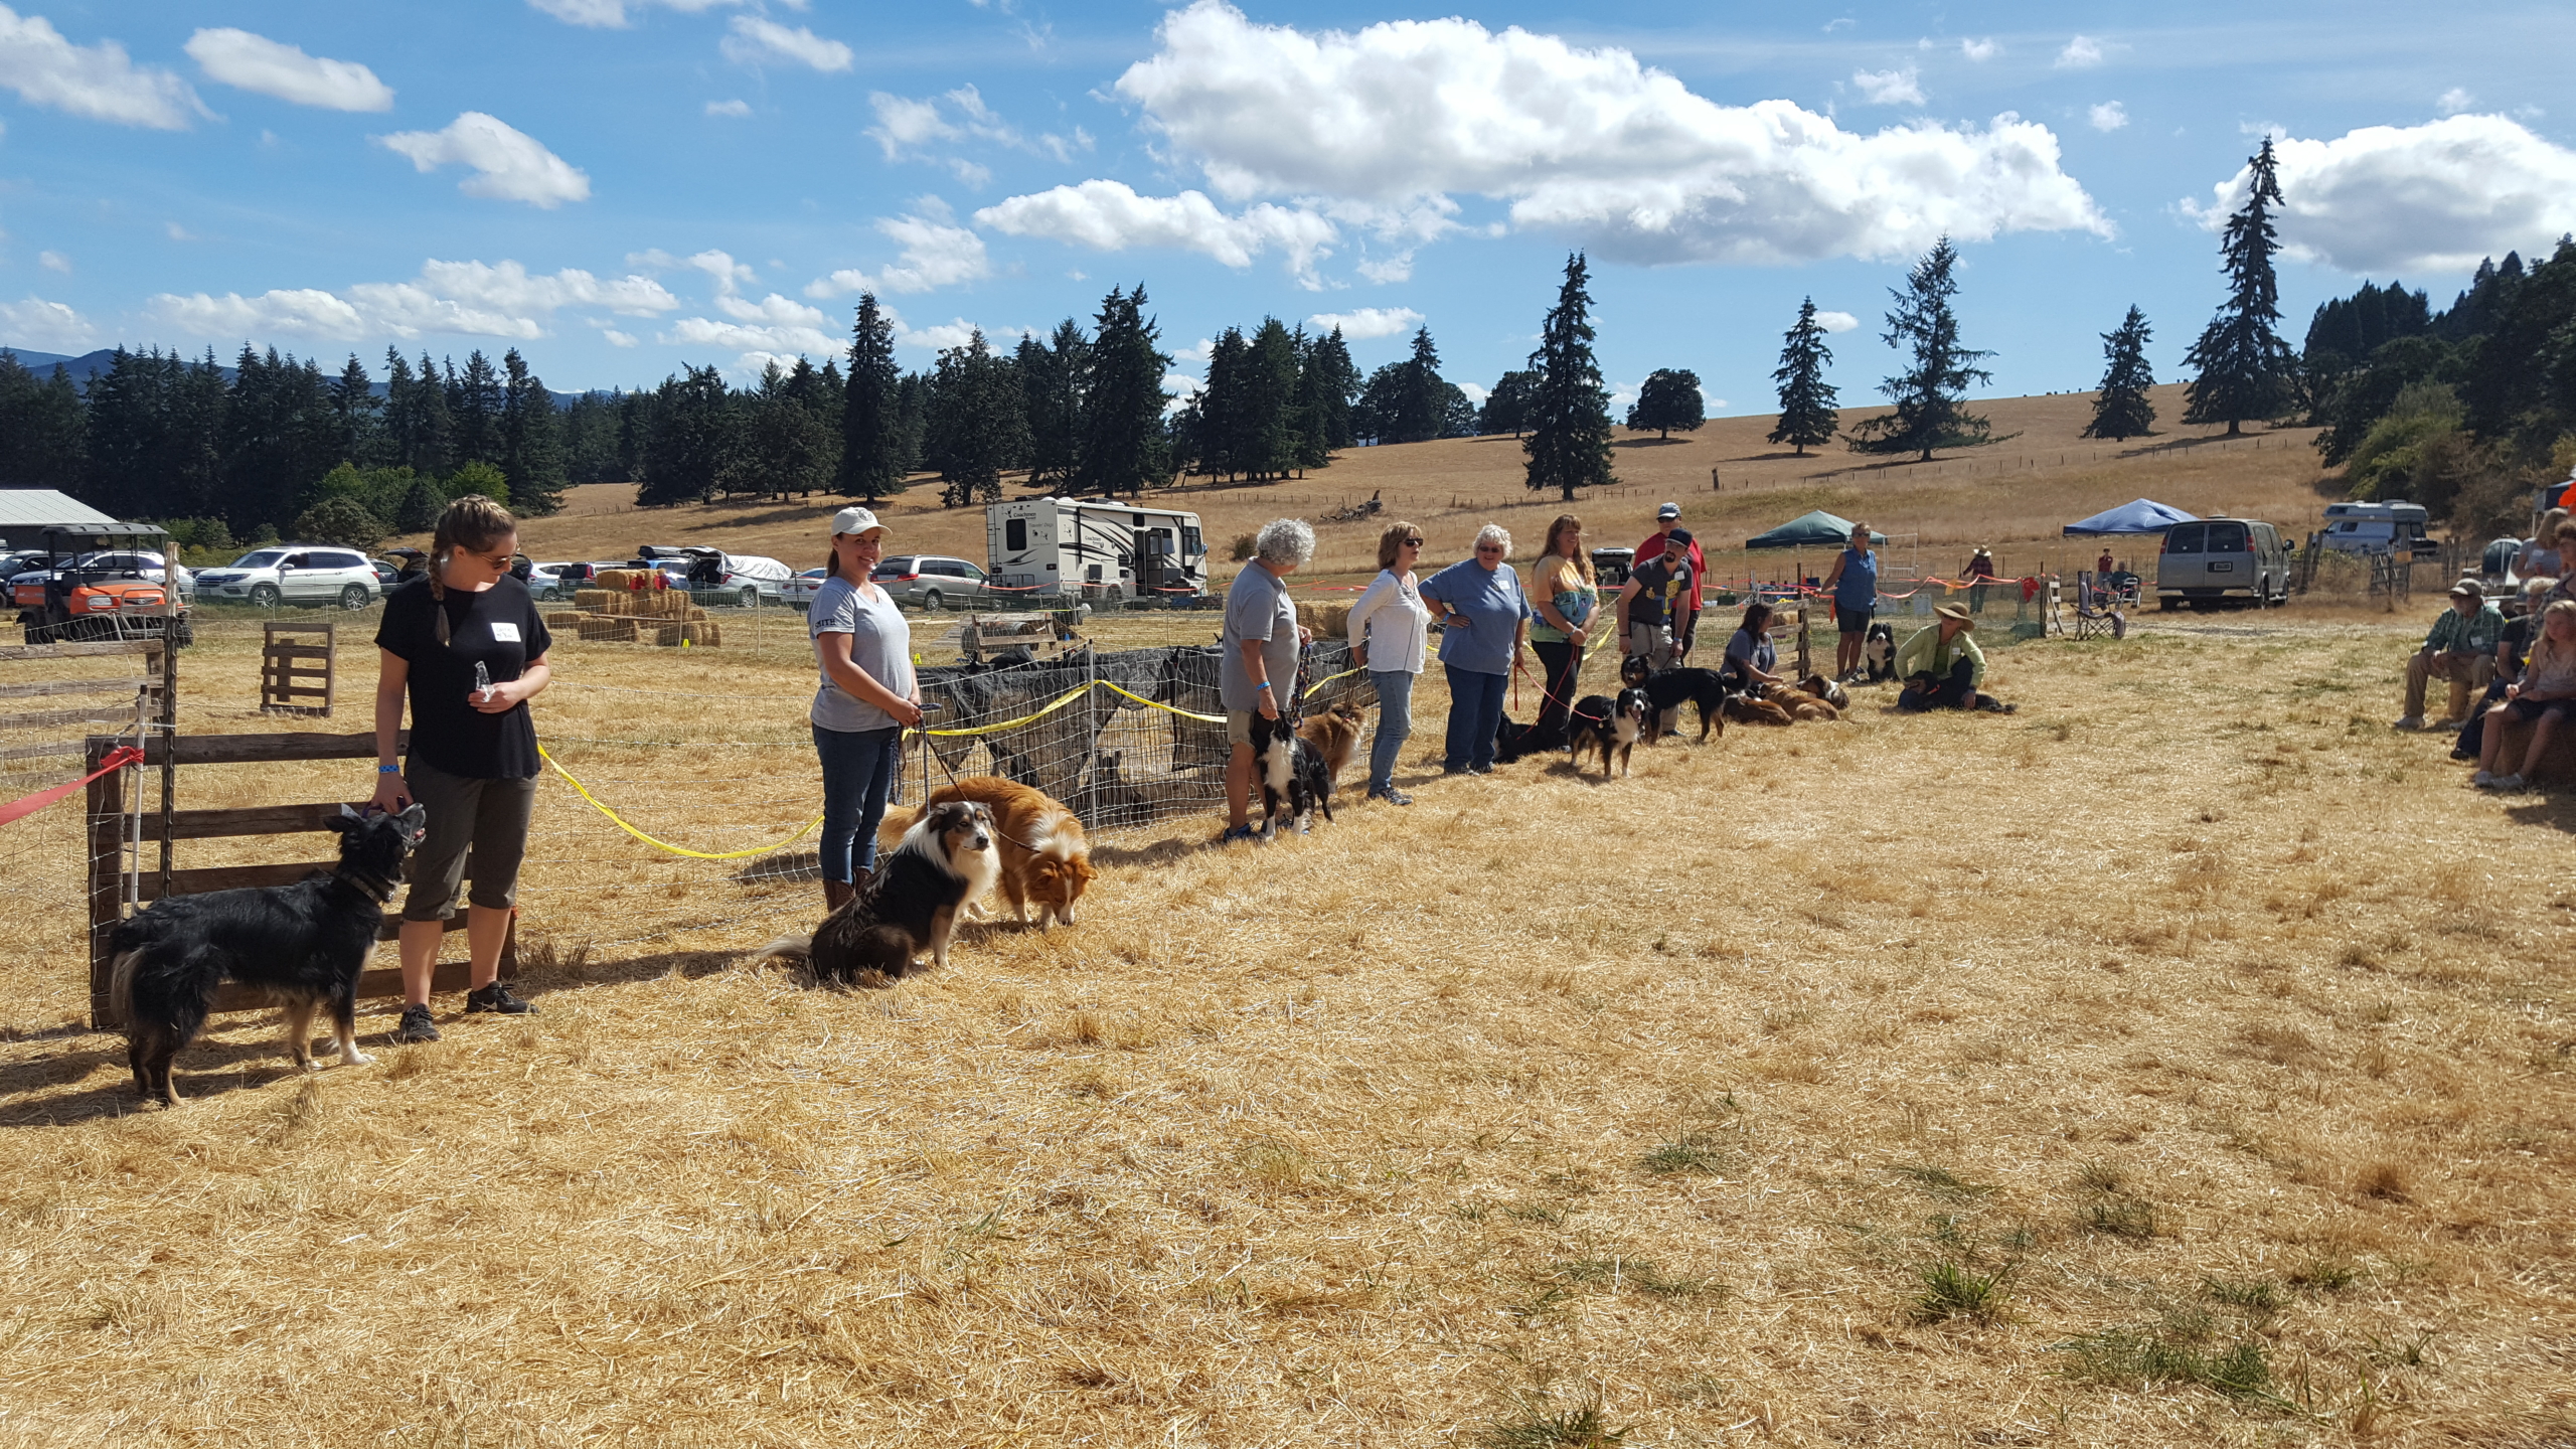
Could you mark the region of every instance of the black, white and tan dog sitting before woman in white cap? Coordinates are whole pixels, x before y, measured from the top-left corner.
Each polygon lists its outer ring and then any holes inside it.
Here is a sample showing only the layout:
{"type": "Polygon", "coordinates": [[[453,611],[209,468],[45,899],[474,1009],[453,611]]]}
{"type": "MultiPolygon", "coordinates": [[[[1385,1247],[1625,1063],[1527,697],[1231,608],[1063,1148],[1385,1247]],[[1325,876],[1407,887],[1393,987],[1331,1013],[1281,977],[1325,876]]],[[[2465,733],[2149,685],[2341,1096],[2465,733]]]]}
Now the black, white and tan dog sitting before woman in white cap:
{"type": "Polygon", "coordinates": [[[783,936],[760,954],[801,959],[819,980],[842,982],[899,977],[925,949],[945,967],[958,913],[992,890],[997,874],[992,812],[966,799],[933,804],[848,905],[824,915],[811,936],[783,936]]]}

